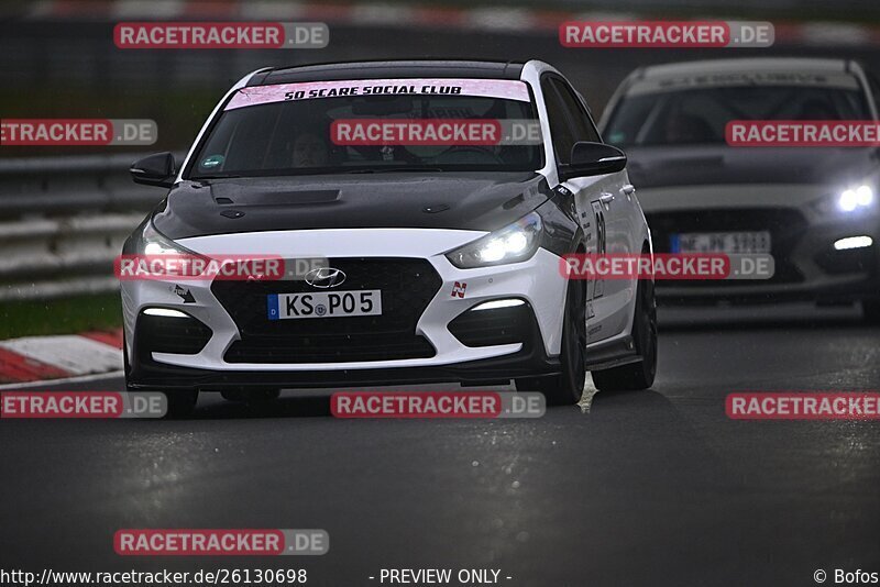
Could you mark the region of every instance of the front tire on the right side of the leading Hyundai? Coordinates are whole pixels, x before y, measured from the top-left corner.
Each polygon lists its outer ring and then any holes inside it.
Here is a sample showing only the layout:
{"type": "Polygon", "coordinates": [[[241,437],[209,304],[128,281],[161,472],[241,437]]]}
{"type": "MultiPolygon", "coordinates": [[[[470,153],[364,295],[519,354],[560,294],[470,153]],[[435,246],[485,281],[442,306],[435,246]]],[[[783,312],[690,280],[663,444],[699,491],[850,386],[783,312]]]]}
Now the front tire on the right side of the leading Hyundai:
{"type": "Polygon", "coordinates": [[[562,319],[562,366],[559,375],[516,379],[518,391],[540,391],[548,406],[571,406],[581,401],[586,381],[586,296],[584,281],[569,281],[562,319]]]}

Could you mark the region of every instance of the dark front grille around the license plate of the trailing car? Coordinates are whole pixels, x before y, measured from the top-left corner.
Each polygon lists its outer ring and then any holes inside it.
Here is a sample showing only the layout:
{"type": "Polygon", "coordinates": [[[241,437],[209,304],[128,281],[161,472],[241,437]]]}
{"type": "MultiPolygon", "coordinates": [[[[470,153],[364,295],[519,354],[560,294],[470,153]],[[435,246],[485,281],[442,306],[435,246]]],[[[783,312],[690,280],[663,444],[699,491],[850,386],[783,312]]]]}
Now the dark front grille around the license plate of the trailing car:
{"type": "MultiPolygon", "coordinates": [[[[791,252],[806,226],[806,221],[796,210],[783,208],[771,209],[732,209],[732,210],[688,210],[680,212],[660,212],[646,214],[651,229],[654,253],[669,253],[672,235],[684,232],[739,232],[769,231],[771,240],[770,254],[773,256],[776,270],[773,277],[762,280],[763,284],[796,284],[803,281],[803,274],[791,261],[791,252]]],[[[750,279],[725,280],[725,286],[754,286],[750,279]]],[[[659,280],[658,287],[717,287],[713,279],[659,280]]]]}

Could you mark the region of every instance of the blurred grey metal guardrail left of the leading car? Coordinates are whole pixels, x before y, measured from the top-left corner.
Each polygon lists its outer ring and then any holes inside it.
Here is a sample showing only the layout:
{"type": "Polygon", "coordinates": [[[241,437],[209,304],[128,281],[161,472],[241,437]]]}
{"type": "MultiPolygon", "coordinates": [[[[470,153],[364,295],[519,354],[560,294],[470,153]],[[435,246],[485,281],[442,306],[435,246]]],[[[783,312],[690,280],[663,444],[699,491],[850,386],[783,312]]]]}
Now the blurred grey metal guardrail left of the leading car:
{"type": "Polygon", "coordinates": [[[132,182],[138,157],[0,159],[0,301],[118,289],[113,258],[165,195],[132,182]]]}

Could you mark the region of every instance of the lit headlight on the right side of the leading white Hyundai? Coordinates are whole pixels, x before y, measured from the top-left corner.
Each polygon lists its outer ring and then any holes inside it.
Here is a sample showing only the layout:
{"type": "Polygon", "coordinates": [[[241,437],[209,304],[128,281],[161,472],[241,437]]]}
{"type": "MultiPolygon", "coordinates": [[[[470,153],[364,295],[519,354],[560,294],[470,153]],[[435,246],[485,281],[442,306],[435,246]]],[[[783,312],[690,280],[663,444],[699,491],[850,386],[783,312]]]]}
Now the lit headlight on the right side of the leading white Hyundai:
{"type": "Polygon", "coordinates": [[[450,251],[447,258],[460,269],[527,261],[538,251],[541,230],[541,217],[531,212],[508,226],[450,251]]]}

